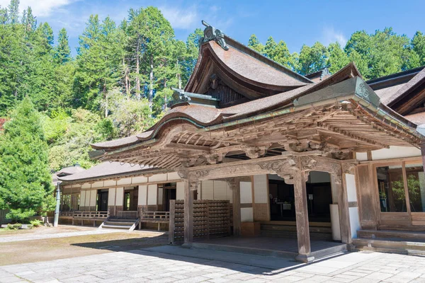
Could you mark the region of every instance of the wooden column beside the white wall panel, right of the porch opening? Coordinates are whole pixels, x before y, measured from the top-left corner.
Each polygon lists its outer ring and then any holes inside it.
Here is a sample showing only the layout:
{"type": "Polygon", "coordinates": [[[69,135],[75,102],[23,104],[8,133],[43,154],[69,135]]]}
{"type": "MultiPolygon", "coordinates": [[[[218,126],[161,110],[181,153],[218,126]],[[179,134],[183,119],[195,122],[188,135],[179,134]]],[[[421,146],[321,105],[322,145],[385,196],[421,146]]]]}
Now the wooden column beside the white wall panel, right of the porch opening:
{"type": "Polygon", "coordinates": [[[341,242],[351,243],[351,225],[350,213],[348,211],[348,196],[347,184],[345,173],[342,174],[341,179],[335,174],[331,174],[332,186],[338,192],[338,212],[339,212],[339,229],[341,230],[341,242]]]}

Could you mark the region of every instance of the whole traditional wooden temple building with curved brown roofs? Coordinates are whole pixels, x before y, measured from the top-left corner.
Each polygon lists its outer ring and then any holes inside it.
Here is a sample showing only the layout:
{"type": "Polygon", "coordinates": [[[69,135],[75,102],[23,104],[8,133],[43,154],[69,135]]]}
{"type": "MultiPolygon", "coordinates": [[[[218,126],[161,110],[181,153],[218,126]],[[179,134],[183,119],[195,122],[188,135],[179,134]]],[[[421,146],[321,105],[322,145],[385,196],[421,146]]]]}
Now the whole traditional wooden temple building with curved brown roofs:
{"type": "Polygon", "coordinates": [[[81,190],[79,211],[108,211],[106,226],[164,223],[174,244],[304,262],[420,250],[402,240],[425,239],[425,70],[302,76],[203,23],[196,67],[166,115],[92,145],[112,171],[60,178],[65,193],[81,190]]]}

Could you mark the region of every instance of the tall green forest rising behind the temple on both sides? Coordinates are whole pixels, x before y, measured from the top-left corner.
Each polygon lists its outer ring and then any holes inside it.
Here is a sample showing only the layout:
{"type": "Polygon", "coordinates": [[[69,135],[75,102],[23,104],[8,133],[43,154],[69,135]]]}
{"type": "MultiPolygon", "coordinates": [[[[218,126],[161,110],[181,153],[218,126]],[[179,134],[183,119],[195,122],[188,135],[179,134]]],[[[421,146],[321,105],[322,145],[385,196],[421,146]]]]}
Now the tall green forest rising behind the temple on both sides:
{"type": "MultiPolygon", "coordinates": [[[[19,1],[11,0],[0,7],[0,120],[11,120],[28,97],[39,113],[50,170],[89,168],[89,144],[142,132],[164,115],[171,87],[183,88],[196,65],[202,36],[198,28],[186,42],[177,40],[158,8],[131,8],[120,23],[90,16],[73,57],[67,30],[54,35],[30,7],[20,14],[19,1]]],[[[316,42],[293,53],[273,37],[262,43],[251,35],[247,45],[300,74],[324,67],[335,73],[355,62],[373,79],[425,65],[421,31],[409,38],[392,28],[360,30],[345,46],[316,42]]]]}

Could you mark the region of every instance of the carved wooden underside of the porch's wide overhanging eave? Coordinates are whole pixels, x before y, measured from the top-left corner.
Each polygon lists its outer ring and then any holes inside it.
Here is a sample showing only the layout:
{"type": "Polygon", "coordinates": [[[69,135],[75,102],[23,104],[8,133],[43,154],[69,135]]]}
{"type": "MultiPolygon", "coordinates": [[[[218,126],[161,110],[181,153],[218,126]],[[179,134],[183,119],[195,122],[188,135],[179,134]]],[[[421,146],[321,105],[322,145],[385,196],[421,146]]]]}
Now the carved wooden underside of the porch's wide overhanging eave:
{"type": "Polygon", "coordinates": [[[347,151],[417,146],[413,123],[380,105],[379,97],[358,77],[294,100],[294,106],[208,127],[164,125],[157,141],[111,151],[102,160],[143,163],[162,168],[222,162],[246,154],[256,158],[270,148],[320,150],[341,156],[347,151]],[[168,127],[168,129],[167,129],[168,127]]]}

